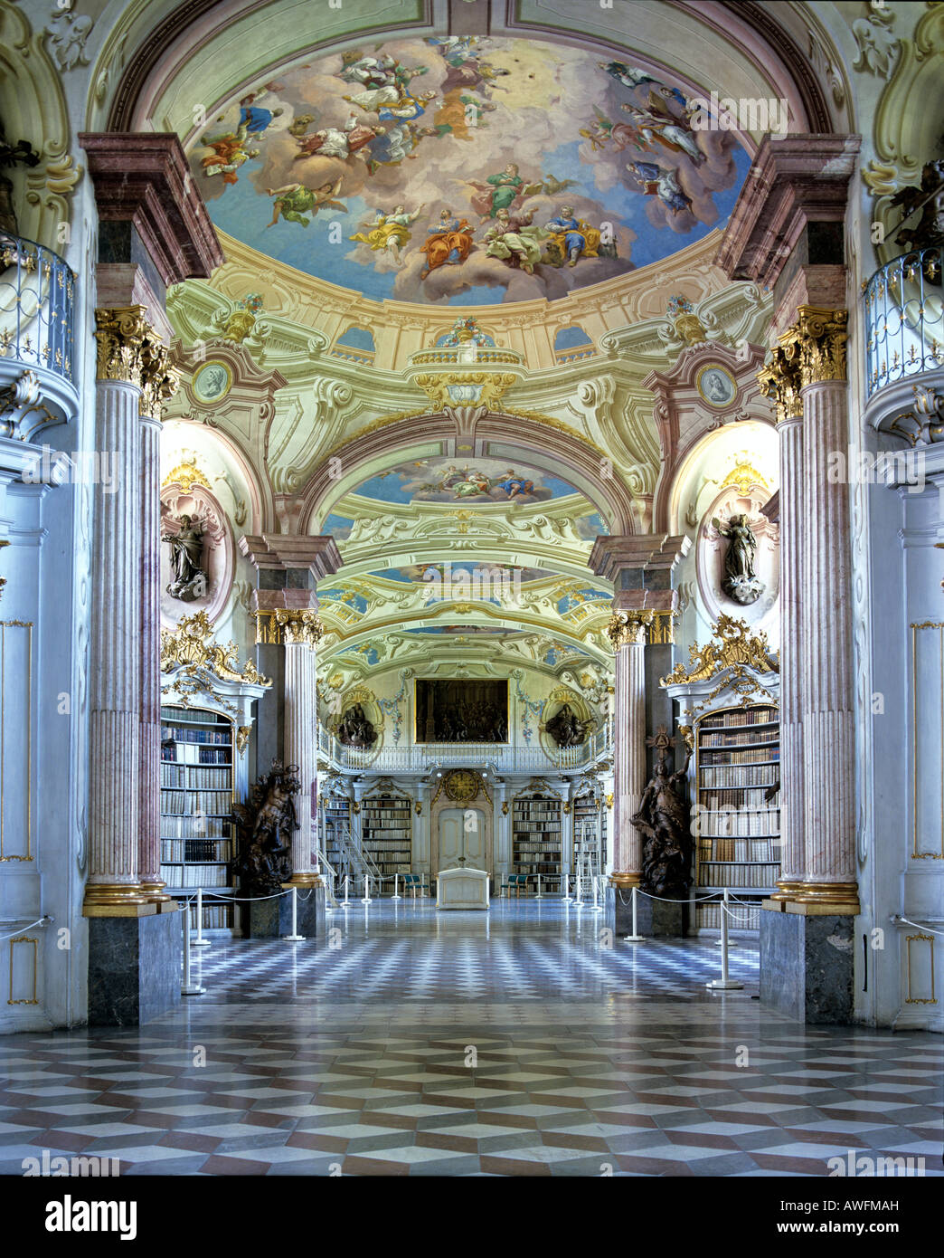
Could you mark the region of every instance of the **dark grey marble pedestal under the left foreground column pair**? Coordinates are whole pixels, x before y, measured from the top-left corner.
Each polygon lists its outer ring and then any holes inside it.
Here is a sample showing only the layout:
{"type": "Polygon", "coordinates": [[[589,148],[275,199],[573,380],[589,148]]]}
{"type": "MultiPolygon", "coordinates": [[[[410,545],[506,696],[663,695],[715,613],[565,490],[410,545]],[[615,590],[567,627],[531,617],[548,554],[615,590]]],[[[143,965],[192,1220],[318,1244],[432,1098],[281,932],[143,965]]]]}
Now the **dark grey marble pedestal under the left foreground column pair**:
{"type": "Polygon", "coordinates": [[[147,917],[89,917],[89,1025],[141,1027],[180,1004],[182,956],[176,905],[147,917]]]}

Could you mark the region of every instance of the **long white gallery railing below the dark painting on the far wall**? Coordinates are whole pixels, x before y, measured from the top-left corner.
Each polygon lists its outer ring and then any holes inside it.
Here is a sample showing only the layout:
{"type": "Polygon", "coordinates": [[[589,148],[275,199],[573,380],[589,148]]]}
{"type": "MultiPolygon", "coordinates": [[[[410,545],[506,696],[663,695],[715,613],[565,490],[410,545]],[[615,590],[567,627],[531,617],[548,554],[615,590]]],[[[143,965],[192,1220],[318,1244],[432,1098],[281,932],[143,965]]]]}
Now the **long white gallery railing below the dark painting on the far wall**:
{"type": "Polygon", "coordinates": [[[499,772],[553,774],[581,769],[610,751],[610,728],[597,730],[578,747],[522,747],[507,742],[422,742],[407,747],[347,747],[318,726],[318,751],[339,769],[388,774],[422,774],[437,764],[450,769],[493,765],[499,772]]]}

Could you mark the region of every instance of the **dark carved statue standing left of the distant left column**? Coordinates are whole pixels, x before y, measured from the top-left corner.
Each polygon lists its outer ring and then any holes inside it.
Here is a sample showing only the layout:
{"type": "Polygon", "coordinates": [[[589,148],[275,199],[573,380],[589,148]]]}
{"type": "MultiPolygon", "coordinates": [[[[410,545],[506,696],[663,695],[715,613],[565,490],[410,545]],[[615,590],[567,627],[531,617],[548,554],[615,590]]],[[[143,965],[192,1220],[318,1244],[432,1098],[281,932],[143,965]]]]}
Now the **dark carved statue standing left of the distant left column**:
{"type": "Polygon", "coordinates": [[[233,862],[248,896],[274,896],[292,877],[292,837],[298,827],[295,799],[302,784],[295,765],[273,760],[269,772],[253,788],[248,805],[233,809],[239,852],[233,862]]]}

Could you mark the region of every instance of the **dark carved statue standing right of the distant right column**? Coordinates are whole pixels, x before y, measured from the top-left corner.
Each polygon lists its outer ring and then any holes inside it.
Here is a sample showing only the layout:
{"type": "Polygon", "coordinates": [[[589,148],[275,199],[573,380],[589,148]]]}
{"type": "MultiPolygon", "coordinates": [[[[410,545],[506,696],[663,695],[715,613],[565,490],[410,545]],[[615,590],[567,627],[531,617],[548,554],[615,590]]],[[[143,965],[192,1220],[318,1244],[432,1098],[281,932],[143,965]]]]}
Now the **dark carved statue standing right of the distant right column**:
{"type": "Polygon", "coordinates": [[[691,844],[689,840],[689,806],[685,801],[685,764],[669,772],[669,760],[662,751],[640,803],[639,813],[630,820],[644,835],[641,889],[652,896],[683,899],[691,884],[691,844]]]}

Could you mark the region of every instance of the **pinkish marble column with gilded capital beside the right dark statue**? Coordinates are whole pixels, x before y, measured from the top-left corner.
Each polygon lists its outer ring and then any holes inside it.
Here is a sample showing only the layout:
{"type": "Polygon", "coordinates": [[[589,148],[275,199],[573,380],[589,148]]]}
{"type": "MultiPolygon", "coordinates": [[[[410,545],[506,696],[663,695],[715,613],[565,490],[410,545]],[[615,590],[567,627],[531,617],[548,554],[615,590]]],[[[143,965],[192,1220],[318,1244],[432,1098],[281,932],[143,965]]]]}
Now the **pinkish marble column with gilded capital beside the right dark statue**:
{"type": "Polygon", "coordinates": [[[616,611],[607,634],[616,652],[613,683],[613,868],[610,884],[639,886],[642,838],[630,818],[646,789],[645,650],[654,613],[616,611]]]}

